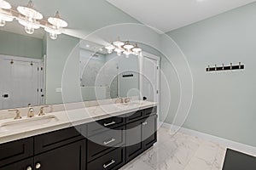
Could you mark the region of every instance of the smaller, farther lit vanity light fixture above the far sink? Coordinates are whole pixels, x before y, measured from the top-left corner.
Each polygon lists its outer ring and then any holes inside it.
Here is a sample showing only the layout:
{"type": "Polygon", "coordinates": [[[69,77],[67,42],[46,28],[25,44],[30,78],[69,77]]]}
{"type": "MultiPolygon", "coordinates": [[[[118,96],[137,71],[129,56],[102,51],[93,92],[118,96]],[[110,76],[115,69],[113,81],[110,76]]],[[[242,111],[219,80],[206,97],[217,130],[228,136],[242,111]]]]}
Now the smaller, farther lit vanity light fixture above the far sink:
{"type": "Polygon", "coordinates": [[[139,55],[143,51],[142,48],[139,48],[137,44],[134,46],[129,41],[122,42],[120,40],[112,42],[105,48],[108,50],[108,54],[112,54],[114,51],[118,54],[118,56],[121,54],[125,54],[126,56],[129,56],[130,54],[139,55]]]}

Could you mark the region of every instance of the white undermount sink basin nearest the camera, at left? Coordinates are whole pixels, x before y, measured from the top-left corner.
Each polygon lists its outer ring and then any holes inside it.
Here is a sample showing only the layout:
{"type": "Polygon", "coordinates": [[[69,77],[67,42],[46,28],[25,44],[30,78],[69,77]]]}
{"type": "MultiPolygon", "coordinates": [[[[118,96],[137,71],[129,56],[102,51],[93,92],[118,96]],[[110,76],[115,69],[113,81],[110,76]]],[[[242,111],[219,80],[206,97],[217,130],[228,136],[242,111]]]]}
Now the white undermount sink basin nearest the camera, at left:
{"type": "Polygon", "coordinates": [[[53,115],[34,116],[32,118],[25,118],[20,120],[3,122],[2,124],[0,124],[0,127],[8,130],[8,129],[22,128],[22,127],[33,127],[38,125],[45,125],[51,122],[58,122],[58,121],[59,119],[53,115]]]}

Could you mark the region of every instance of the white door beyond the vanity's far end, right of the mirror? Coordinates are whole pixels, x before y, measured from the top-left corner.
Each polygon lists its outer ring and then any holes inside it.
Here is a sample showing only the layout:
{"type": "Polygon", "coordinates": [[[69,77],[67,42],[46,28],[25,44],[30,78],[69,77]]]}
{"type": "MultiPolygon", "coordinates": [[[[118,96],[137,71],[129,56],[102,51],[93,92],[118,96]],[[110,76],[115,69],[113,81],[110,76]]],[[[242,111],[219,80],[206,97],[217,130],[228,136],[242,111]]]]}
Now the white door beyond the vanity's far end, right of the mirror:
{"type": "Polygon", "coordinates": [[[159,58],[143,54],[143,100],[159,102],[159,58]]]}

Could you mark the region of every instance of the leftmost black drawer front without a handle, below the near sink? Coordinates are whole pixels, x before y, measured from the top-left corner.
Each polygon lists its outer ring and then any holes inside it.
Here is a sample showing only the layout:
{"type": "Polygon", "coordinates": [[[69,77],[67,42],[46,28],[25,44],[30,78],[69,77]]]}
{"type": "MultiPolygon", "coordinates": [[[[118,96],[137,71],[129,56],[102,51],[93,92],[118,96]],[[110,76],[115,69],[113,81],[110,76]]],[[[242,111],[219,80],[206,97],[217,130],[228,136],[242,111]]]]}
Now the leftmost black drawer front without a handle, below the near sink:
{"type": "Polygon", "coordinates": [[[0,167],[33,155],[33,139],[0,144],[0,167]]]}

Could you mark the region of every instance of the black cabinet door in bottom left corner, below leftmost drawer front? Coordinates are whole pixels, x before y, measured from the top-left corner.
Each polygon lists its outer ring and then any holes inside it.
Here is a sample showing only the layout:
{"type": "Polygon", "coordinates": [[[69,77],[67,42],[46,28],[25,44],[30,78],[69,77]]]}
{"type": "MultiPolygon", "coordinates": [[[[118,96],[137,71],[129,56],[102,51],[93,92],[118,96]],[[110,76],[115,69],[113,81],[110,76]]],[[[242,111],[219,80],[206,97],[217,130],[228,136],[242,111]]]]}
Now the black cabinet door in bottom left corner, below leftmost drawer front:
{"type": "Polygon", "coordinates": [[[33,166],[33,158],[24,161],[18,161],[9,166],[2,167],[0,170],[31,170],[33,166]]]}

